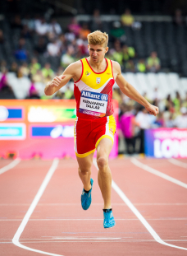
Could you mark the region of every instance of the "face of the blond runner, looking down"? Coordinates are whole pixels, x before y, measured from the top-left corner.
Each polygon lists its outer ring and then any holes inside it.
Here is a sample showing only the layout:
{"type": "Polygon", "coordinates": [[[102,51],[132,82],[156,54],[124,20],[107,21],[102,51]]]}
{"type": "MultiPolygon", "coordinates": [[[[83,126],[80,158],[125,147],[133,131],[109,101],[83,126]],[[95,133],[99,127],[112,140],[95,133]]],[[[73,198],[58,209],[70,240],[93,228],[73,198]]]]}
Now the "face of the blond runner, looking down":
{"type": "Polygon", "coordinates": [[[104,47],[103,45],[99,44],[89,44],[89,56],[94,63],[98,63],[103,60],[104,55],[107,54],[108,47],[104,47]]]}

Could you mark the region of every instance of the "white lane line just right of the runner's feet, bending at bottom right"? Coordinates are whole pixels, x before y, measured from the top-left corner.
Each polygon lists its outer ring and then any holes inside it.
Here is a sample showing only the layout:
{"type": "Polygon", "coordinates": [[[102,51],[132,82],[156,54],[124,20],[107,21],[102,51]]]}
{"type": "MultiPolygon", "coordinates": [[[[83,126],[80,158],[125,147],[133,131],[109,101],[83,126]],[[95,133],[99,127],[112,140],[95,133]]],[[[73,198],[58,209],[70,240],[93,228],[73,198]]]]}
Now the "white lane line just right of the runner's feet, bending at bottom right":
{"type": "MultiPolygon", "coordinates": [[[[94,158],[94,165],[95,167],[98,169],[98,165],[97,165],[97,161],[94,158]]],[[[184,247],[180,247],[180,246],[176,246],[174,244],[168,244],[166,242],[164,242],[159,235],[157,235],[157,233],[155,232],[155,230],[153,230],[153,227],[150,226],[148,224],[148,221],[146,221],[144,219],[144,216],[141,215],[141,213],[136,209],[136,207],[132,204],[132,202],[130,202],[129,198],[127,198],[125,196],[125,193],[123,193],[123,191],[117,186],[117,184],[113,181],[112,179],[112,188],[116,191],[116,193],[118,193],[118,195],[121,197],[121,199],[125,202],[125,204],[130,207],[130,210],[132,212],[134,212],[135,216],[137,216],[137,218],[139,218],[139,221],[142,222],[142,224],[144,225],[144,227],[148,230],[148,232],[153,236],[153,238],[157,241],[157,243],[159,244],[164,244],[166,246],[170,246],[170,247],[174,247],[177,249],[184,249],[187,250],[187,248],[184,247]]]]}

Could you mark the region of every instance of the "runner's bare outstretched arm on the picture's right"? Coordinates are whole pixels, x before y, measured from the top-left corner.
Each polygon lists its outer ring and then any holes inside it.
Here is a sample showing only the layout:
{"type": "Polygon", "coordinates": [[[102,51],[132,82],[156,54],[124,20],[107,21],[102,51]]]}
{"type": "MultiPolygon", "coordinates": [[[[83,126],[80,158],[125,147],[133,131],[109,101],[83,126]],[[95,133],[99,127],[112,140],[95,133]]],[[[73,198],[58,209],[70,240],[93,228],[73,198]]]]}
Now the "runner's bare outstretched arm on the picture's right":
{"type": "Polygon", "coordinates": [[[112,64],[114,77],[116,77],[116,83],[120,87],[121,91],[130,99],[139,102],[141,105],[144,105],[149,114],[156,116],[159,112],[158,108],[154,105],[151,105],[148,100],[146,100],[142,95],[139,94],[138,91],[135,90],[135,87],[131,86],[128,81],[125,81],[125,78],[121,74],[121,67],[119,63],[112,61],[112,64]]]}

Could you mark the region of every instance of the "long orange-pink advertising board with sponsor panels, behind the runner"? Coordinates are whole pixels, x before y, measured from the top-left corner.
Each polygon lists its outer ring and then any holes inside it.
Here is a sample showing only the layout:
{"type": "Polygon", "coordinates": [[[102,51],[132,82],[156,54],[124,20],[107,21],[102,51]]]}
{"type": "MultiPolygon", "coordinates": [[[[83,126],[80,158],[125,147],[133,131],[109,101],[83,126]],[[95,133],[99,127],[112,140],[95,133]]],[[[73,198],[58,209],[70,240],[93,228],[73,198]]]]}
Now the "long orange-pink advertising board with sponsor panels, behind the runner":
{"type": "MultiPolygon", "coordinates": [[[[117,121],[118,105],[113,101],[117,121]]],[[[75,100],[1,100],[0,157],[75,157],[75,100]]],[[[117,156],[118,142],[111,157],[117,156]]]]}

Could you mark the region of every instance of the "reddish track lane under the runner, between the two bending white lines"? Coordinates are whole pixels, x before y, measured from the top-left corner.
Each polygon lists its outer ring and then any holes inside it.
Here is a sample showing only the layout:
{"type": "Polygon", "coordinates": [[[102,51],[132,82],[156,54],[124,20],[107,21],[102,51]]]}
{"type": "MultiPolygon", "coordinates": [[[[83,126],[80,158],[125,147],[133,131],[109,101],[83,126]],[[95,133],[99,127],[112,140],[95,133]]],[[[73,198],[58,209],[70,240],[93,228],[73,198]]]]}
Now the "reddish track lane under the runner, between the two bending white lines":
{"type": "MultiPolygon", "coordinates": [[[[123,171],[124,168],[123,170],[118,168],[118,166],[121,167],[121,165],[116,165],[116,163],[118,163],[118,161],[112,166],[113,176],[116,175],[114,172],[117,169],[117,180],[119,181],[120,179],[121,181],[124,181],[126,179],[126,183],[129,184],[130,180],[128,175],[125,177],[123,171]]],[[[126,164],[126,162],[123,161],[122,167],[124,167],[124,164],[126,164]]],[[[132,165],[130,165],[130,167],[132,168],[132,165]]],[[[92,170],[94,177],[93,202],[95,202],[95,204],[93,204],[88,211],[83,211],[80,205],[74,205],[75,203],[80,202],[80,193],[82,191],[82,184],[77,174],[77,163],[73,160],[69,162],[60,162],[58,169],[52,176],[39,203],[71,202],[73,205],[58,205],[57,207],[42,207],[41,205],[38,205],[35,208],[35,211],[40,211],[39,218],[51,218],[52,221],[39,222],[30,220],[21,235],[21,239],[29,240],[29,245],[27,244],[27,246],[66,256],[93,256],[98,255],[98,252],[106,255],[186,254],[186,252],[179,249],[171,249],[154,242],[153,237],[148,233],[148,230],[146,230],[140,221],[137,220],[130,209],[125,206],[125,203],[123,204],[121,198],[119,198],[114,191],[112,192],[112,202],[121,203],[121,205],[113,207],[114,216],[116,218],[116,227],[110,230],[104,230],[102,212],[103,200],[98,189],[97,171],[94,167],[92,170]],[[98,203],[101,203],[101,205],[98,205],[98,203]],[[67,217],[67,221],[61,221],[62,218],[67,217]],[[70,220],[76,218],[82,220],[70,220]],[[91,219],[91,221],[89,221],[89,219],[91,219]],[[119,219],[126,220],[121,221],[119,219]],[[49,242],[43,242],[42,239],[49,236],[49,242]],[[103,237],[106,238],[105,241],[101,241],[103,237]],[[85,240],[85,238],[91,240],[85,240]],[[118,240],[116,241],[115,238],[118,240]],[[34,239],[37,239],[35,243],[33,241],[34,239]]],[[[135,179],[135,174],[133,175],[133,178],[135,179]]],[[[147,178],[148,177],[146,176],[146,179],[147,178]]],[[[122,183],[122,188],[126,189],[124,183],[122,183]]],[[[152,189],[152,187],[149,189],[152,189]]],[[[132,190],[133,189],[130,186],[130,191],[132,190]]],[[[144,188],[142,191],[144,191],[144,188]]],[[[133,193],[135,194],[135,191],[133,191],[133,193]]],[[[137,196],[139,198],[139,191],[136,193],[136,197],[137,196]]],[[[146,198],[146,201],[144,202],[147,202],[147,199],[148,198],[146,198]]],[[[136,202],[142,201],[140,200],[136,202]]],[[[150,200],[149,202],[153,201],[150,200]]],[[[35,214],[35,211],[33,212],[33,215],[35,214]]],[[[185,242],[183,241],[179,243],[181,246],[181,244],[185,242]]]]}

